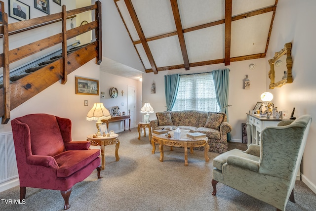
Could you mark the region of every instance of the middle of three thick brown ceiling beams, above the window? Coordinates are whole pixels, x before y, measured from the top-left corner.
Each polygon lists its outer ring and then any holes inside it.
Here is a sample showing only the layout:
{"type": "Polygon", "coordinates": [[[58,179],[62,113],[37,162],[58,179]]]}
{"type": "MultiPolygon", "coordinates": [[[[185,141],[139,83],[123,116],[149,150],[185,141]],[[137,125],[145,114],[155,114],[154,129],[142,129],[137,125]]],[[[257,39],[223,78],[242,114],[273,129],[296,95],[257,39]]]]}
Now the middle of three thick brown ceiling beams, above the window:
{"type": "Polygon", "coordinates": [[[183,30],[182,30],[178,2],[177,2],[177,0],[170,0],[170,3],[171,3],[171,7],[172,7],[174,22],[175,22],[176,28],[177,28],[177,34],[178,34],[178,38],[179,38],[179,42],[180,42],[180,48],[181,48],[181,52],[182,52],[184,67],[186,70],[190,70],[188,52],[187,52],[186,42],[184,40],[184,35],[183,35],[183,30]]]}

